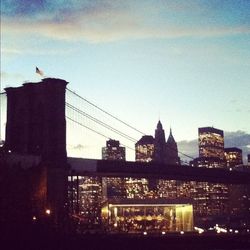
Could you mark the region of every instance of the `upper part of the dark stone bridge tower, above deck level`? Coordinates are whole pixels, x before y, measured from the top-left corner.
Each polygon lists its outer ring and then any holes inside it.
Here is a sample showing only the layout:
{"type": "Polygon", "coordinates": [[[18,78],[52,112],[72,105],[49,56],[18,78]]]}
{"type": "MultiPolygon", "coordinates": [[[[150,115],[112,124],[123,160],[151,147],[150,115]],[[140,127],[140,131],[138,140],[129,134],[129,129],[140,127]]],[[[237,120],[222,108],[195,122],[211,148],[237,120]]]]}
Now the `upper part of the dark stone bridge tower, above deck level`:
{"type": "Polygon", "coordinates": [[[40,155],[43,161],[66,161],[66,85],[64,80],[46,78],[5,89],[7,150],[40,155]]]}

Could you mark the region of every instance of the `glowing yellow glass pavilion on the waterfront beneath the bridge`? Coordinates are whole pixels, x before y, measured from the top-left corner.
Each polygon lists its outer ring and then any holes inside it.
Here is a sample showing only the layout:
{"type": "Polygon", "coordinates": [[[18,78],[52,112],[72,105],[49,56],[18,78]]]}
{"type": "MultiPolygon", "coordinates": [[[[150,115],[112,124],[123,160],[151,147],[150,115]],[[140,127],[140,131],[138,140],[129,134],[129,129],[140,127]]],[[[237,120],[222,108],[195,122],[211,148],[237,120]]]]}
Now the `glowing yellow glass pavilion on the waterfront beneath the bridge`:
{"type": "Polygon", "coordinates": [[[181,199],[110,200],[102,220],[113,232],[193,231],[193,206],[181,199]]]}

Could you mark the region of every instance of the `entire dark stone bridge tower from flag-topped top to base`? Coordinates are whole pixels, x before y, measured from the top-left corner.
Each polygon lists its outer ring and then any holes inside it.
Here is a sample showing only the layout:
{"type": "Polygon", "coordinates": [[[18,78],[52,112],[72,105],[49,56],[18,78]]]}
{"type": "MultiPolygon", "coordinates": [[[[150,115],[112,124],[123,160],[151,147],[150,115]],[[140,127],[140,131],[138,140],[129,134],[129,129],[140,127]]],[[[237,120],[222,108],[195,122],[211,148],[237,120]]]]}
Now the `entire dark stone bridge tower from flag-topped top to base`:
{"type": "MultiPolygon", "coordinates": [[[[67,194],[66,86],[65,80],[45,78],[38,83],[24,83],[20,87],[5,89],[5,152],[17,158],[40,158],[39,165],[32,168],[34,183],[27,185],[34,189],[31,192],[34,196],[43,194],[37,199],[37,204],[40,205],[35,204],[38,207],[36,213],[41,217],[49,214],[56,224],[65,215],[67,194]],[[38,181],[35,176],[39,171],[41,174],[38,181]]],[[[31,200],[33,206],[36,202],[32,197],[31,200]]]]}

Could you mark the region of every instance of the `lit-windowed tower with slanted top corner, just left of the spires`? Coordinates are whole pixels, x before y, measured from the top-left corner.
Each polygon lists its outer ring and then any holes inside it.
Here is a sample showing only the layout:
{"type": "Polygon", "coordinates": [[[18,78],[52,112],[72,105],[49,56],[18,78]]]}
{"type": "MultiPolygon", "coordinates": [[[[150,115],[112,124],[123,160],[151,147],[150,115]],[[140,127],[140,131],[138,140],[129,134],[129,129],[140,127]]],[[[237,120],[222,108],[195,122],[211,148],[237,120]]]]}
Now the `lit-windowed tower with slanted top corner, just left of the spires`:
{"type": "Polygon", "coordinates": [[[135,160],[141,162],[150,162],[153,160],[154,154],[154,137],[144,135],[135,144],[135,160]]]}

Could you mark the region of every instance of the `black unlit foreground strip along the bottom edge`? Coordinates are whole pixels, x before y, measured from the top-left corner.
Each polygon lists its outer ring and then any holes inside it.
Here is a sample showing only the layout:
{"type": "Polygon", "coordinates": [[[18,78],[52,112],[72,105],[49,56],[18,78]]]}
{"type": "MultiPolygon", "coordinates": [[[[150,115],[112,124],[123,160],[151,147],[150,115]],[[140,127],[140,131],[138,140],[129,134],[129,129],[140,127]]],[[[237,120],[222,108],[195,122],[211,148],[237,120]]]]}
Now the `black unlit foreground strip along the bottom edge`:
{"type": "MultiPolygon", "coordinates": [[[[43,229],[44,230],[44,229],[43,229]]],[[[249,235],[64,235],[32,229],[1,235],[1,248],[18,250],[249,250],[249,235]]]]}

